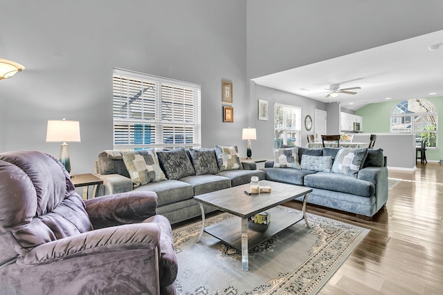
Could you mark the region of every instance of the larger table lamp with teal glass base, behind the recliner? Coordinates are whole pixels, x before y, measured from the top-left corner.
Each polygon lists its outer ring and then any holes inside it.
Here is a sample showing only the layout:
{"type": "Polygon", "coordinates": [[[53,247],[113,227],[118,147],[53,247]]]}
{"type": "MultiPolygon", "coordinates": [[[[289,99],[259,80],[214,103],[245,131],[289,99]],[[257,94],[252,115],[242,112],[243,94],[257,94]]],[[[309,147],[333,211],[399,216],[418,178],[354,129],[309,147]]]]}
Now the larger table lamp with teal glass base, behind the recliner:
{"type": "Polygon", "coordinates": [[[66,142],[80,142],[80,122],[65,120],[48,120],[46,142],[62,142],[60,162],[68,173],[71,173],[71,160],[66,142]]]}

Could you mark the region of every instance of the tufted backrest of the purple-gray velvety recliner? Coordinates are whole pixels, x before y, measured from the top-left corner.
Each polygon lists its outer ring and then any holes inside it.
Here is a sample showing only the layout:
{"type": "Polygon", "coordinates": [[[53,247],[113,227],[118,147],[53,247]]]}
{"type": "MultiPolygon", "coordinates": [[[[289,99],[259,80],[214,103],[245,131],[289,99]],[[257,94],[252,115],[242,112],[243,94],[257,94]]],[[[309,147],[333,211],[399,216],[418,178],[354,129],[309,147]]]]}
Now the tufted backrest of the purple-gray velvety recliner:
{"type": "Polygon", "coordinates": [[[89,230],[84,202],[60,161],[38,151],[0,153],[0,256],[8,247],[19,253],[89,230]]]}

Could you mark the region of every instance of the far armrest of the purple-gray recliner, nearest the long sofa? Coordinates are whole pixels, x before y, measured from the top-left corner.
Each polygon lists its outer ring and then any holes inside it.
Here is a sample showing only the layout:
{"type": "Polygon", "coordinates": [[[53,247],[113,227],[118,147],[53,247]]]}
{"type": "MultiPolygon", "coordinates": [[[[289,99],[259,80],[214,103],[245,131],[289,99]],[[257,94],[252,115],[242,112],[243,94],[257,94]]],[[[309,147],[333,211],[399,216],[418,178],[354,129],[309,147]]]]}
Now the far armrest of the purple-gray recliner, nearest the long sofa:
{"type": "Polygon", "coordinates": [[[84,200],[95,229],[142,222],[156,215],[157,195],[153,191],[129,191],[84,200]]]}

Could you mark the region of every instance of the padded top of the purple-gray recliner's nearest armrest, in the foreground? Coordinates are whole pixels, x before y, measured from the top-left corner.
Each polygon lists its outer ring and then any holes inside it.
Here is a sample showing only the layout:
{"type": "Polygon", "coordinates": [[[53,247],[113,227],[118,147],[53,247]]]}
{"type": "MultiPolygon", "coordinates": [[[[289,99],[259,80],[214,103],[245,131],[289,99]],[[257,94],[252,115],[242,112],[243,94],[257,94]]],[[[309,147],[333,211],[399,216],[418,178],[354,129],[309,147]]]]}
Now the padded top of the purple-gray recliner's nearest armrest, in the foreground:
{"type": "Polygon", "coordinates": [[[88,231],[77,236],[46,242],[30,250],[17,260],[17,264],[28,267],[84,255],[109,253],[123,249],[155,249],[159,245],[160,227],[155,223],[121,225],[88,231]]]}

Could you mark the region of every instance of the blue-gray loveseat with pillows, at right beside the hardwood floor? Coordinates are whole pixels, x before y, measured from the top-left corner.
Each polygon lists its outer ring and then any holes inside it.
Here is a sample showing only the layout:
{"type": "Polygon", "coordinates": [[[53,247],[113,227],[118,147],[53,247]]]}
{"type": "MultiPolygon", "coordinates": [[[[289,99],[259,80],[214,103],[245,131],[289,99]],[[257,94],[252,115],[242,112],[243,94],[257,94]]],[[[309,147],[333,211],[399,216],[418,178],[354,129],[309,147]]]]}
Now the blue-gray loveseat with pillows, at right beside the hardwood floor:
{"type": "Polygon", "coordinates": [[[360,158],[355,156],[352,162],[357,158],[361,162],[354,169],[343,164],[349,155],[341,153],[339,156],[339,148],[300,147],[279,151],[280,155],[274,155],[274,158],[280,157],[285,162],[277,167],[279,164],[275,165],[274,161],[266,161],[262,169],[266,180],[310,187],[312,192],[307,202],[311,204],[355,213],[359,218],[371,220],[388,200],[388,169],[382,149],[355,149],[360,158]]]}

